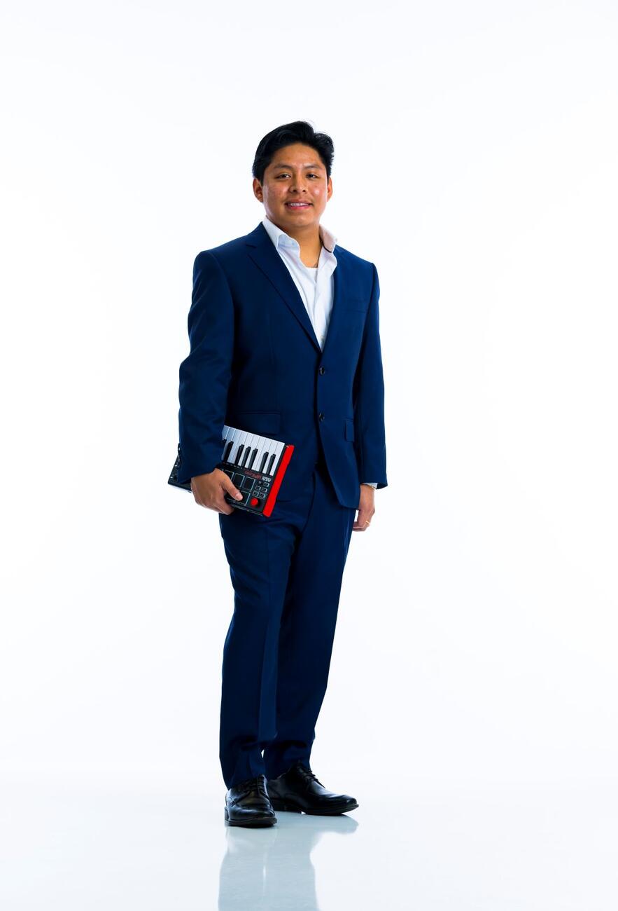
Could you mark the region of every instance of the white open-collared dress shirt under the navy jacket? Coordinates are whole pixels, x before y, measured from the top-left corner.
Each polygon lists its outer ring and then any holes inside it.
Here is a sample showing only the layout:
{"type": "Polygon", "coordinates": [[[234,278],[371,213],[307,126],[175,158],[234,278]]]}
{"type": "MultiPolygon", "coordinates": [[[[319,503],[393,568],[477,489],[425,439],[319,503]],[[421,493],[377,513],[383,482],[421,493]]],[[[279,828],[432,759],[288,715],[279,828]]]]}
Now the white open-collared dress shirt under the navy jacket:
{"type": "MultiPolygon", "coordinates": [[[[318,265],[314,268],[306,266],[300,259],[300,245],[289,234],[279,228],[274,221],[264,215],[262,224],[268,232],[268,237],[275,245],[275,250],[288,267],[289,274],[294,284],[299,289],[302,302],[309,314],[309,320],[316,333],[319,347],[324,348],[326,335],[329,331],[330,312],[332,310],[335,279],[333,272],[337,266],[334,250],[337,238],[329,230],[319,225],[319,237],[322,248],[319,251],[318,265]]],[[[370,481],[363,481],[371,487],[377,487],[370,481]]]]}

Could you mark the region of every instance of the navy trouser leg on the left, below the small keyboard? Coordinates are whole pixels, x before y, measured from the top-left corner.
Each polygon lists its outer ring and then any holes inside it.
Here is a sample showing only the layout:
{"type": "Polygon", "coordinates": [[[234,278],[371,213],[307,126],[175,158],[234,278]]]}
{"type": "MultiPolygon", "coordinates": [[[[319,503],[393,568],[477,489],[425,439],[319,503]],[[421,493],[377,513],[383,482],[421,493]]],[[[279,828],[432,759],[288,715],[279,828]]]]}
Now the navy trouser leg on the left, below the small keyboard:
{"type": "Polygon", "coordinates": [[[279,625],[289,566],[313,497],[277,503],[272,516],[219,514],[234,611],[223,647],[219,759],[226,786],[265,773],[276,729],[279,625]]]}

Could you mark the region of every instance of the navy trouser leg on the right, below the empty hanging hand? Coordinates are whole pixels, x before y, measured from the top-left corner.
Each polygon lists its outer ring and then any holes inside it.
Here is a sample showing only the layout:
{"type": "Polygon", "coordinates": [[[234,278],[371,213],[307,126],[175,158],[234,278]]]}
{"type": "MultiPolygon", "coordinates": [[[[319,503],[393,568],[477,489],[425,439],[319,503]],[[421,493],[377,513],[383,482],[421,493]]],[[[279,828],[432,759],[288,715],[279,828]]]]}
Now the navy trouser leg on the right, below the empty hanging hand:
{"type": "Polygon", "coordinates": [[[356,509],[342,507],[325,469],[290,560],[280,622],[277,734],[264,748],[267,778],[296,759],[309,765],[315,724],[327,688],[343,570],[356,509]]]}

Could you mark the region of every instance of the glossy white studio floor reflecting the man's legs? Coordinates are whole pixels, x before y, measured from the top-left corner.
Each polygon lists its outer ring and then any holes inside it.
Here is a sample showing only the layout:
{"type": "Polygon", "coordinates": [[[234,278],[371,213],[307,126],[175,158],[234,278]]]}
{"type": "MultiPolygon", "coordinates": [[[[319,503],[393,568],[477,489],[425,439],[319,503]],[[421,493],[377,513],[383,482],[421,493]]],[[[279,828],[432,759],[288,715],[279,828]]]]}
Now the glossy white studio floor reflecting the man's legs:
{"type": "MultiPolygon", "coordinates": [[[[372,785],[372,789],[374,785],[372,785]]],[[[423,792],[401,778],[328,819],[228,827],[223,793],[2,800],[3,911],[607,911],[618,797],[583,784],[423,792]],[[399,793],[398,793],[399,792],[399,793]]]]}

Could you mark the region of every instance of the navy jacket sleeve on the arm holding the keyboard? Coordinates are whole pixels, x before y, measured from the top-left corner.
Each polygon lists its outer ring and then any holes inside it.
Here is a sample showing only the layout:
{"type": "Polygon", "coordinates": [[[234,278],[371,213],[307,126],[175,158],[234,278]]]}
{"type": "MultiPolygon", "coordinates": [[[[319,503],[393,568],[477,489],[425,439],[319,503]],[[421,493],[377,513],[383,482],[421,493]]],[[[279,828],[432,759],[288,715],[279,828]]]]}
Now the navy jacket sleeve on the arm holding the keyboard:
{"type": "Polygon", "coordinates": [[[213,471],[222,432],[234,351],[234,303],[212,253],[198,253],[187,318],[190,352],[179,368],[178,481],[213,471]]]}

